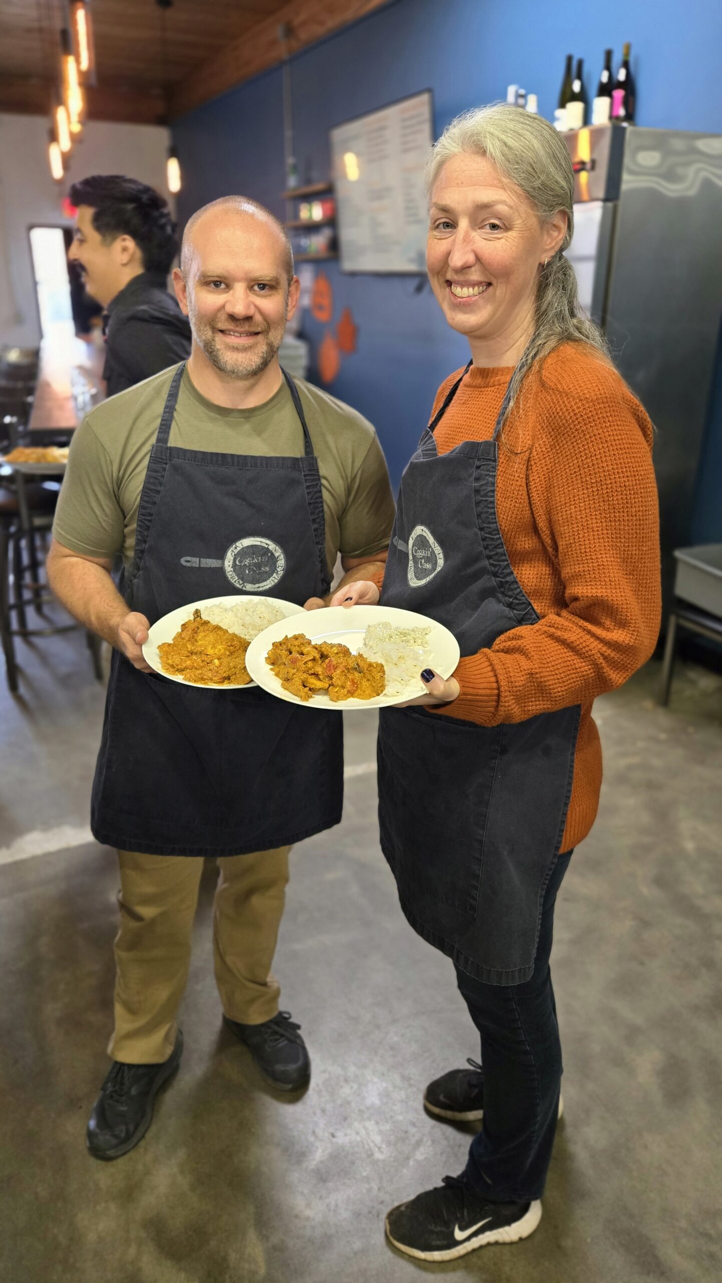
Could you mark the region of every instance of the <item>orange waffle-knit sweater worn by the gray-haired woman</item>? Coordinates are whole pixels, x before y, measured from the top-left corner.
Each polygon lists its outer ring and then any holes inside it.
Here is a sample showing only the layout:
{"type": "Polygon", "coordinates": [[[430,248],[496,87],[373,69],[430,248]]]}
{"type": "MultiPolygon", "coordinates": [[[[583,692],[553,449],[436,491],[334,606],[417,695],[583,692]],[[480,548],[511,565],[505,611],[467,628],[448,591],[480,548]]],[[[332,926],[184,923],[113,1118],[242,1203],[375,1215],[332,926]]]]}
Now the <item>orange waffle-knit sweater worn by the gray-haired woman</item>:
{"type": "MultiPolygon", "coordinates": [[[[460,371],[441,385],[433,413],[460,371]]],[[[472,367],[436,429],[445,454],[494,432],[510,368],[472,367]]],[[[581,704],[562,851],[586,837],[599,803],[595,695],[621,686],[659,630],[659,531],[653,427],[619,375],[567,343],[526,380],[499,445],[496,516],[540,620],[462,658],[444,716],[494,726],[581,704]]]]}

